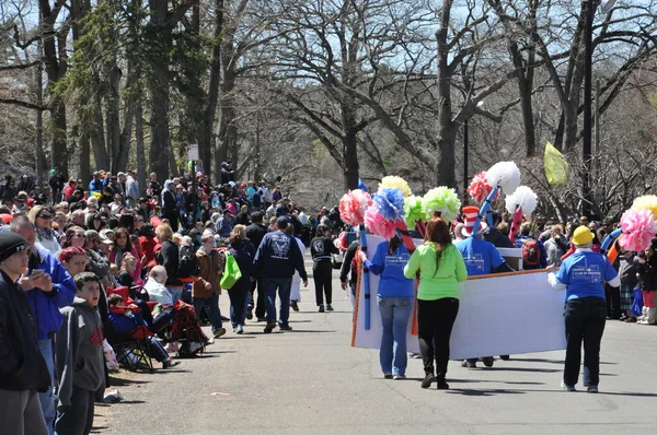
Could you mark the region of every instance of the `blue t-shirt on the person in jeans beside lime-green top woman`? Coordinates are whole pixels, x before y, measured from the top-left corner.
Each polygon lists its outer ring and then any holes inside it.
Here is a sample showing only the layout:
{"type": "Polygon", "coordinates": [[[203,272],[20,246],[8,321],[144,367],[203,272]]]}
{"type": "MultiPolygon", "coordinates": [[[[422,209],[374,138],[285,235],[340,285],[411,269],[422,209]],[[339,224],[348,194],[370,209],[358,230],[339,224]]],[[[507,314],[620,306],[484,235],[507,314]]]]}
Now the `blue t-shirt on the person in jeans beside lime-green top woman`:
{"type": "Polygon", "coordinates": [[[372,261],[366,266],[376,275],[380,275],[379,297],[413,297],[413,280],[404,277],[404,266],[408,262],[408,250],[401,245],[393,254],[388,252],[388,242],[377,246],[372,261]]]}

